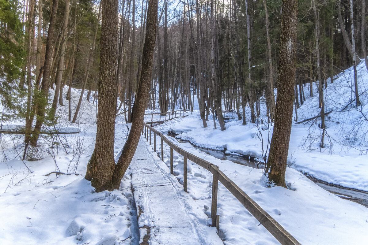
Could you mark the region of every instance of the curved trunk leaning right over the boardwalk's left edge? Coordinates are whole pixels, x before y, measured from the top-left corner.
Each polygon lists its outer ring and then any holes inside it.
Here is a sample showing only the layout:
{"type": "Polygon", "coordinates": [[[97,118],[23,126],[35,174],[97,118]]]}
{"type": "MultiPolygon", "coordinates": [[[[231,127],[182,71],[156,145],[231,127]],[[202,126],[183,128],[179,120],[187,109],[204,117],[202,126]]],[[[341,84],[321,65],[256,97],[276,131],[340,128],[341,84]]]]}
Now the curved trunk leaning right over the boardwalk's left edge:
{"type": "Polygon", "coordinates": [[[116,189],[120,187],[121,179],[123,178],[125,171],[128,169],[141,137],[144,112],[152,78],[153,51],[155,48],[157,28],[157,8],[158,0],[151,0],[148,2],[146,39],[142,55],[142,73],[141,79],[139,80],[137,97],[134,101],[135,105],[132,127],[112,176],[113,188],[116,189]]]}

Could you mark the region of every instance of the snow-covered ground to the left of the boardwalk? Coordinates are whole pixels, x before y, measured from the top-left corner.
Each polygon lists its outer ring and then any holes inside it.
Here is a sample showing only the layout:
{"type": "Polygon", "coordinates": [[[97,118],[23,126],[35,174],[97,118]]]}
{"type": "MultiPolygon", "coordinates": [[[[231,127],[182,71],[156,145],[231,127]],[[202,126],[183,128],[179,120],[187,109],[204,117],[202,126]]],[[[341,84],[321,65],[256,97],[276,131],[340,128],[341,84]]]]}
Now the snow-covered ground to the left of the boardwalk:
{"type": "MultiPolygon", "coordinates": [[[[72,116],[78,92],[72,92],[72,116]]],[[[67,106],[59,108],[56,128],[81,133],[55,138],[65,149],[52,147],[50,138],[40,138],[43,152],[34,155],[43,156],[42,160],[12,160],[20,159],[22,136],[1,135],[0,244],[138,244],[130,177],[124,177],[120,190],[100,193],[84,179],[95,144],[96,105],[84,100],[78,124],[67,122],[67,110],[67,106]],[[57,176],[55,171],[70,174],[57,176]]],[[[127,125],[118,120],[115,155],[128,132],[127,125]]],[[[14,129],[24,124],[9,121],[4,126],[14,129]]]]}

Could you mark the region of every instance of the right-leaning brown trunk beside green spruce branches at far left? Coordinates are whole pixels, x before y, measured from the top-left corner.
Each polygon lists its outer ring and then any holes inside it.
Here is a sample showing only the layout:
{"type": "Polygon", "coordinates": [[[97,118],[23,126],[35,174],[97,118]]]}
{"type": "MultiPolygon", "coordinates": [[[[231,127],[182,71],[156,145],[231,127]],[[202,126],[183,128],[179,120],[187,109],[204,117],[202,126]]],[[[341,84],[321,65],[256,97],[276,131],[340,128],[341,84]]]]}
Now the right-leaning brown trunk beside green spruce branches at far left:
{"type": "Polygon", "coordinates": [[[41,127],[45,120],[45,108],[48,104],[49,98],[49,88],[50,88],[50,74],[52,68],[52,60],[53,60],[53,46],[55,42],[55,22],[56,22],[56,12],[59,1],[53,0],[52,4],[52,12],[50,16],[50,25],[49,30],[47,32],[47,42],[46,42],[46,53],[45,53],[45,64],[43,65],[43,77],[41,90],[36,96],[35,101],[37,104],[37,120],[35,128],[33,129],[33,134],[31,137],[30,144],[32,146],[37,145],[38,137],[41,131],[41,127]]]}

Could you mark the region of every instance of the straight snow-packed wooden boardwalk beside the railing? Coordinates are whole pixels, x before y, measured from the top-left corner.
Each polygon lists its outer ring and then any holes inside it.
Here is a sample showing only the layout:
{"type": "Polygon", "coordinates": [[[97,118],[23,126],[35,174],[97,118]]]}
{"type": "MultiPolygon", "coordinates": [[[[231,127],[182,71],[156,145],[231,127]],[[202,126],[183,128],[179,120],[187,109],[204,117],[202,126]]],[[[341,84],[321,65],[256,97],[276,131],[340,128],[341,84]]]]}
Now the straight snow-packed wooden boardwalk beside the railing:
{"type": "Polygon", "coordinates": [[[216,228],[208,226],[208,217],[143,137],[130,166],[139,210],[139,243],[223,245],[216,228]]]}

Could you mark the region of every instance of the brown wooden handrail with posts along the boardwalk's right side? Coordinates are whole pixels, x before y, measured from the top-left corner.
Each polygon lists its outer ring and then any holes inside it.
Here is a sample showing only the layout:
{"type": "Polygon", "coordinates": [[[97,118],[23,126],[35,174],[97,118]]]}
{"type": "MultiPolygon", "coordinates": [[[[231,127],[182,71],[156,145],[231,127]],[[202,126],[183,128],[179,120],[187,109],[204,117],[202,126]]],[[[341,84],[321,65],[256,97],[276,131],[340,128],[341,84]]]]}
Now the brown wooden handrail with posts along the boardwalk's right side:
{"type": "Polygon", "coordinates": [[[282,227],[275,219],[273,219],[265,210],[261,208],[252,198],[250,198],[243,190],[240,189],[232,180],[229,179],[219,168],[212,163],[201,159],[184,149],[181,149],[171,141],[169,141],[162,133],[144,123],[142,135],[151,144],[151,134],[154,134],[154,150],[156,151],[156,135],[161,138],[161,159],[164,160],[163,142],[170,146],[170,172],[173,174],[173,150],[184,157],[184,191],[188,192],[187,182],[187,159],[197,165],[209,170],[213,176],[212,182],[212,202],[211,202],[211,219],[212,225],[219,229],[219,215],[217,215],[217,188],[218,181],[230,191],[238,201],[280,242],[282,245],[301,245],[284,227],[282,227]]]}

